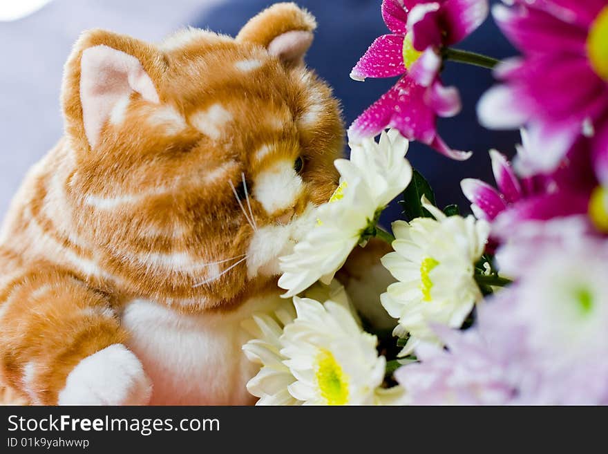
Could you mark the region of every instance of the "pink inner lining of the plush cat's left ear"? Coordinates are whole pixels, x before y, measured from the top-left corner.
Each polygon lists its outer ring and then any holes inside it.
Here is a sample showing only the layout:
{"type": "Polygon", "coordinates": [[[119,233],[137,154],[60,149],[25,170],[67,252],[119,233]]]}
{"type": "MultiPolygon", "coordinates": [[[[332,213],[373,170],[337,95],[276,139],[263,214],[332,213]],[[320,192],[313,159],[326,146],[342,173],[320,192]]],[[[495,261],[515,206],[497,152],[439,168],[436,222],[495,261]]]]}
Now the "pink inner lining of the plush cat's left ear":
{"type": "Polygon", "coordinates": [[[145,100],[159,102],[152,79],[133,55],[94,46],[84,50],[80,66],[82,120],[91,146],[97,144],[99,131],[123,97],[135,91],[145,100]]]}

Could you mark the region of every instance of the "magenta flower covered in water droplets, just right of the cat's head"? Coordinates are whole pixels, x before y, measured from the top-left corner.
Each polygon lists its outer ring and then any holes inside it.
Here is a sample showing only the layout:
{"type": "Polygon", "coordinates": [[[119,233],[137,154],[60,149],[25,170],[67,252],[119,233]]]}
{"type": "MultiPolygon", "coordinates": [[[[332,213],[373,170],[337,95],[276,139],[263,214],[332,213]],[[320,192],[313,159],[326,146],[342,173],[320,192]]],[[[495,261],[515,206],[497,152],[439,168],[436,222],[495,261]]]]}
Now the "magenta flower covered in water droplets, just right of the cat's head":
{"type": "Polygon", "coordinates": [[[392,34],[376,39],[350,76],[402,77],[353,122],[350,140],[392,127],[450,158],[468,158],[471,153],[450,149],[437,134],[437,116],[451,117],[461,108],[457,89],[439,78],[441,50],[468,36],[487,14],[487,0],[383,0],[382,17],[392,34]]]}

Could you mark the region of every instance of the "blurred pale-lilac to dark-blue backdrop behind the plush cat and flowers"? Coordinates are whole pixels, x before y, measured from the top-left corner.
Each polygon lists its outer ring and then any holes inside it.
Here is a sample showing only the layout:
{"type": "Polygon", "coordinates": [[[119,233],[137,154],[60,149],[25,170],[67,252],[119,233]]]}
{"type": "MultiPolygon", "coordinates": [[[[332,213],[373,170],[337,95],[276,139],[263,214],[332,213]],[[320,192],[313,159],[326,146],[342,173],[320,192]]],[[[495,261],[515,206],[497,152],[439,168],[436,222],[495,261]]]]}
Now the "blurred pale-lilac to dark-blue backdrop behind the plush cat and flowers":
{"type": "MultiPolygon", "coordinates": [[[[250,17],[275,3],[271,0],[0,0],[0,216],[28,168],[62,134],[59,110],[61,71],[73,42],[86,28],[108,28],[140,39],[160,41],[183,26],[210,28],[236,35],[250,17]]],[[[395,83],[396,79],[354,82],[350,70],[372,41],[388,32],[380,15],[381,0],[298,0],[319,22],[307,63],[334,88],[346,124],[395,83]]],[[[495,1],[493,1],[495,3],[495,1]]],[[[497,58],[515,54],[488,19],[458,46],[497,58]]],[[[437,203],[468,202],[459,181],[475,176],[492,182],[488,150],[512,155],[519,135],[486,131],[479,126],[475,104],[493,84],[489,70],[448,63],[446,84],[456,85],[463,110],[440,120],[439,131],[455,149],[471,150],[466,162],[444,158],[412,144],[408,159],[435,189],[437,203]]],[[[391,207],[384,223],[399,217],[391,207]]]]}

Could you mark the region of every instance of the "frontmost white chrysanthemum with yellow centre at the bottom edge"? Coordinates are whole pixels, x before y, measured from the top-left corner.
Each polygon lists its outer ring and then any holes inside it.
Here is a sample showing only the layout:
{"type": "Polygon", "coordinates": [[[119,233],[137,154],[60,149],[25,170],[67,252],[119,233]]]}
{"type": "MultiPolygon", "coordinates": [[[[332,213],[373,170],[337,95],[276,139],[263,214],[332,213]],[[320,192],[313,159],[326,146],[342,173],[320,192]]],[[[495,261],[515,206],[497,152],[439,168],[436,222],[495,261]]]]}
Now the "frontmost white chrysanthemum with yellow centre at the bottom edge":
{"type": "Polygon", "coordinates": [[[281,354],[296,378],[289,393],[308,405],[370,405],[386,360],[377,338],[363,332],[343,305],[294,297],[298,317],[287,325],[281,354]]]}

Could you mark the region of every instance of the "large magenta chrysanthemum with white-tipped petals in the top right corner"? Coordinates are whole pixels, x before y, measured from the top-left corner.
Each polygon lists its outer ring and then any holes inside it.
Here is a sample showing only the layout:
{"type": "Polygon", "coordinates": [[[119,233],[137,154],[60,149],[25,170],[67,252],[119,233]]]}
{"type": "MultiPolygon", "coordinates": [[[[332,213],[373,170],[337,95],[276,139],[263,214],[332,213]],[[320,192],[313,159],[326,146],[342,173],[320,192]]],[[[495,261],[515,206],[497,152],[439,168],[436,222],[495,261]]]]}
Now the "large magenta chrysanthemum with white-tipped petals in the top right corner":
{"type": "Polygon", "coordinates": [[[502,62],[504,84],[479,102],[493,129],[527,125],[526,172],[553,171],[582,135],[596,175],[608,184],[608,1],[514,0],[493,16],[523,56],[502,62]]]}

